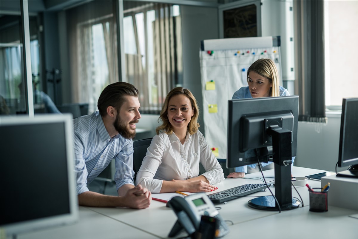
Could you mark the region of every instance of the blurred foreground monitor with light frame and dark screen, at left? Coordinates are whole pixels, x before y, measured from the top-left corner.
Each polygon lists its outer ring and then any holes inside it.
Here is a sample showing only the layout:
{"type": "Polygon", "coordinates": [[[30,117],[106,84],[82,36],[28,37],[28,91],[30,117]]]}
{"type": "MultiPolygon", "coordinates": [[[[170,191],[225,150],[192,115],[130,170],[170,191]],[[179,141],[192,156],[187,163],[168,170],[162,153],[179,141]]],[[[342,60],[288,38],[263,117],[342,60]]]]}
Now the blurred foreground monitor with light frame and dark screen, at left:
{"type": "Polygon", "coordinates": [[[70,114],[0,117],[0,228],[6,235],[77,221],[72,124],[70,114]]]}

